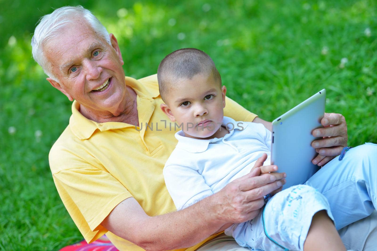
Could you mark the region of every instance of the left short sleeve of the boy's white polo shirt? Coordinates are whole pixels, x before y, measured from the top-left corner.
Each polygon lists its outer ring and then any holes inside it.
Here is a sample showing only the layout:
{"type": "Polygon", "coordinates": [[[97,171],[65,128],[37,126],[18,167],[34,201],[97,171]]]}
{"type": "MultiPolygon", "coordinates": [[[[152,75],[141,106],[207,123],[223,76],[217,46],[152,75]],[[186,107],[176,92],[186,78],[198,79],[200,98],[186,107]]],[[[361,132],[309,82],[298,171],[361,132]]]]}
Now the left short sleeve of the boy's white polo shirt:
{"type": "Polygon", "coordinates": [[[169,165],[165,166],[163,173],[167,190],[177,210],[189,207],[213,194],[203,176],[190,167],[169,165]]]}

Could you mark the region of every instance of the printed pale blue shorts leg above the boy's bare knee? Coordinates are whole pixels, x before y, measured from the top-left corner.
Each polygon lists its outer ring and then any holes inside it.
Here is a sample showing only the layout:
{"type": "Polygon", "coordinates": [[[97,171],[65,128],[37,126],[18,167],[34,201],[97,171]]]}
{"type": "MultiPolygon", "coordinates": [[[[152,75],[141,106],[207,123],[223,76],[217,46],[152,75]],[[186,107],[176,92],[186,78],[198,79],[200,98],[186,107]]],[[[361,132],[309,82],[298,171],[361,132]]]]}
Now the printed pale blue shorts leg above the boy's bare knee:
{"type": "Polygon", "coordinates": [[[233,224],[225,234],[251,250],[303,250],[311,220],[321,210],[334,220],[320,192],[307,185],[292,186],[271,197],[256,218],[233,224]]]}

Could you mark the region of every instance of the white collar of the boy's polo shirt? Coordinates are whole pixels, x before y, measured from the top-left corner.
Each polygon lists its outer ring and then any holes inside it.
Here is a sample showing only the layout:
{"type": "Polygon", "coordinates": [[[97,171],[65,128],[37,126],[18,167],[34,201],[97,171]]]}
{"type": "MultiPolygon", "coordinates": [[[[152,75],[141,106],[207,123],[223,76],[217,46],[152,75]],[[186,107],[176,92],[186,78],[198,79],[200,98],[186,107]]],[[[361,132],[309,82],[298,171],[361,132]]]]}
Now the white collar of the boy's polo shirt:
{"type": "Polygon", "coordinates": [[[175,138],[178,139],[177,148],[181,148],[190,153],[202,153],[207,150],[210,143],[215,143],[221,141],[222,139],[227,139],[233,135],[235,130],[244,130],[247,127],[247,123],[242,121],[236,122],[234,119],[225,117],[222,119],[222,126],[226,126],[229,131],[224,138],[213,138],[213,139],[193,139],[185,137],[184,132],[181,130],[175,133],[175,138]]]}

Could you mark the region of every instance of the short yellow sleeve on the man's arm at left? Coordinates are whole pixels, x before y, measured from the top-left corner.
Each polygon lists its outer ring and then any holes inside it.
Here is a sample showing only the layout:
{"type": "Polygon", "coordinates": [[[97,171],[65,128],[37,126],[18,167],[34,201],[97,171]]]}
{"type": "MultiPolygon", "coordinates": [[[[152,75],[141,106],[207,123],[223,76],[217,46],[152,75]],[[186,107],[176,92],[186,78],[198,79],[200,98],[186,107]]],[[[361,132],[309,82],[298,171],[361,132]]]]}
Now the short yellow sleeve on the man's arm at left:
{"type": "Polygon", "coordinates": [[[62,170],[53,178],[64,206],[88,243],[108,231],[101,222],[120,202],[132,197],[111,174],[90,165],[62,170]]]}

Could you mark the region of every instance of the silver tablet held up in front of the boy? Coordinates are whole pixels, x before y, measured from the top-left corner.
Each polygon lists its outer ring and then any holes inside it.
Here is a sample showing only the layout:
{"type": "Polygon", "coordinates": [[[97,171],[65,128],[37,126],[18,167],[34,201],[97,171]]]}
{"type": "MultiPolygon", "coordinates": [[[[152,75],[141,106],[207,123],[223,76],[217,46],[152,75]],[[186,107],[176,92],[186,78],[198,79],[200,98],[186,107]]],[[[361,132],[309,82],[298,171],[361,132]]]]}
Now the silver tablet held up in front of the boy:
{"type": "Polygon", "coordinates": [[[272,121],[271,165],[287,173],[283,189],[303,184],[319,167],[311,161],[317,155],[311,147],[311,133],[322,127],[326,90],[323,89],[272,121]]]}

